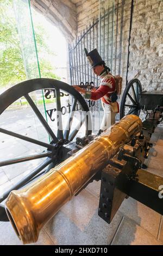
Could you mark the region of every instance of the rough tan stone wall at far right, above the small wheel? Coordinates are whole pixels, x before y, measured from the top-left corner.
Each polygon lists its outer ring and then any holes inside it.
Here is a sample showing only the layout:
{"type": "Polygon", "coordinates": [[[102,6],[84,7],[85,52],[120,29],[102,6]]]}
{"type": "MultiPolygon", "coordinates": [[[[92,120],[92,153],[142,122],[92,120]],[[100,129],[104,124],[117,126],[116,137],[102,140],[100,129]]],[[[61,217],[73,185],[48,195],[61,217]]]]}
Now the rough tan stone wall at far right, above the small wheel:
{"type": "Polygon", "coordinates": [[[136,0],[131,31],[129,77],[145,90],[163,90],[163,1],[136,0]]]}

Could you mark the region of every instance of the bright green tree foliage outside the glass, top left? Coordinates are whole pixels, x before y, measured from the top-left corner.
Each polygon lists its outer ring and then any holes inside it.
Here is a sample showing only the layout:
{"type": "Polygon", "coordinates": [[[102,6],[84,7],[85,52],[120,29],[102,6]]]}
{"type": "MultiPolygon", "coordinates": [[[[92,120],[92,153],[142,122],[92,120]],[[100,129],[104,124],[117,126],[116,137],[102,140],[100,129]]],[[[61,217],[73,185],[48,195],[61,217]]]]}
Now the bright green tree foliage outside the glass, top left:
{"type": "MultiPolygon", "coordinates": [[[[53,55],[46,45],[46,31],[41,25],[35,26],[35,38],[37,50],[39,52],[39,62],[41,77],[57,78],[54,74],[54,68],[48,61],[48,54],[53,55]],[[46,53],[46,54],[45,54],[46,53]]],[[[28,48],[26,55],[30,56],[30,51],[34,48],[28,48]]],[[[37,69],[36,58],[31,61],[30,70],[33,77],[38,77],[35,71],[37,69]]],[[[27,80],[27,70],[24,68],[23,56],[21,51],[20,38],[17,32],[16,19],[12,0],[0,0],[0,87],[12,86],[13,84],[27,80]]]]}

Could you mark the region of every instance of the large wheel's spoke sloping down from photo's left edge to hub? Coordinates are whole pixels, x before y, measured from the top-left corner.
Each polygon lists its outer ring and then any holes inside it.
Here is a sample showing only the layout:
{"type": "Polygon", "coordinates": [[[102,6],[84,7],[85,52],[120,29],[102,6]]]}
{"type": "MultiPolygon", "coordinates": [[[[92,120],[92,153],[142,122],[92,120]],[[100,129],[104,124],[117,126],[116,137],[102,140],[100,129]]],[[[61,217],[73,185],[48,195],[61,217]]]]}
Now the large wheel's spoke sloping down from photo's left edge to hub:
{"type": "Polygon", "coordinates": [[[11,131],[8,131],[8,130],[2,129],[2,128],[0,128],[0,132],[5,133],[7,135],[10,135],[12,137],[16,137],[18,139],[23,139],[23,141],[28,141],[28,142],[34,143],[34,144],[39,145],[41,147],[45,147],[45,148],[48,148],[48,149],[54,149],[55,148],[54,145],[48,144],[46,142],[37,141],[36,139],[20,135],[16,132],[11,132],[11,131]]]}

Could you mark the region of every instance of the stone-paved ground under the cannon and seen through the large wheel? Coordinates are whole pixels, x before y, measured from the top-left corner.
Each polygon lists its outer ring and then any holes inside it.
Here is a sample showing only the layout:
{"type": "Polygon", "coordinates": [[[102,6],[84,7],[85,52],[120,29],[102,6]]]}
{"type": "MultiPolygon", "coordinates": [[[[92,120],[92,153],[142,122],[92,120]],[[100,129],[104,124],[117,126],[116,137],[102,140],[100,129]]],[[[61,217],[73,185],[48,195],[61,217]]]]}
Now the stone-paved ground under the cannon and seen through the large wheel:
{"type": "MultiPolygon", "coordinates": [[[[18,124],[14,124],[13,120],[8,124],[8,130],[10,130],[10,127],[12,127],[12,130],[13,127],[15,127],[15,130],[18,130],[18,124]]],[[[39,126],[37,126],[37,130],[39,130],[39,136],[42,136],[43,139],[45,136],[43,133],[41,134],[39,126]]],[[[32,136],[35,136],[35,134],[33,133],[32,136]]],[[[147,161],[147,170],[162,176],[163,128],[158,127],[155,130],[152,136],[152,142],[154,147],[147,161]]],[[[1,138],[1,143],[5,146],[1,148],[0,153],[1,156],[5,156],[7,150],[9,150],[8,145],[14,147],[14,143],[17,143],[17,141],[11,144],[9,141],[5,141],[4,137],[1,138]]],[[[31,150],[30,153],[34,153],[36,149],[28,149],[27,145],[20,144],[17,150],[16,154],[19,155],[20,151],[21,154],[26,154],[27,152],[29,153],[29,150],[31,150]]],[[[12,150],[10,153],[11,152],[12,150]]],[[[27,167],[26,173],[30,171],[32,166],[29,164],[27,167]]],[[[13,166],[11,169],[1,168],[0,192],[2,193],[23,175],[24,167],[21,166],[21,164],[19,168],[15,169],[13,169],[13,166]]],[[[94,181],[80,192],[78,196],[68,202],[58,214],[45,225],[40,233],[39,240],[35,244],[163,245],[162,216],[132,198],[123,201],[111,224],[107,224],[99,218],[97,215],[99,189],[100,182],[94,181]]],[[[18,240],[10,223],[0,222],[0,245],[21,245],[21,241],[18,240]]]]}

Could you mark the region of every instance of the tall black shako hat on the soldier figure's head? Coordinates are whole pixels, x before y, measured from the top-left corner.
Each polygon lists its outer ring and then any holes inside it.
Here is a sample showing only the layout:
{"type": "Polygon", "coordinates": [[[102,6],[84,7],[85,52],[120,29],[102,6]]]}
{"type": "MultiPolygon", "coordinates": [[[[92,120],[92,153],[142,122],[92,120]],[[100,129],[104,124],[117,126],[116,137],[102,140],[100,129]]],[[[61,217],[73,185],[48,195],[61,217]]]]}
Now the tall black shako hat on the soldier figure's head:
{"type": "Polygon", "coordinates": [[[91,64],[91,69],[94,68],[94,66],[105,64],[104,60],[102,60],[96,48],[91,52],[87,52],[86,48],[84,48],[84,51],[85,51],[87,60],[91,64]]]}

